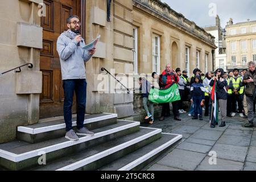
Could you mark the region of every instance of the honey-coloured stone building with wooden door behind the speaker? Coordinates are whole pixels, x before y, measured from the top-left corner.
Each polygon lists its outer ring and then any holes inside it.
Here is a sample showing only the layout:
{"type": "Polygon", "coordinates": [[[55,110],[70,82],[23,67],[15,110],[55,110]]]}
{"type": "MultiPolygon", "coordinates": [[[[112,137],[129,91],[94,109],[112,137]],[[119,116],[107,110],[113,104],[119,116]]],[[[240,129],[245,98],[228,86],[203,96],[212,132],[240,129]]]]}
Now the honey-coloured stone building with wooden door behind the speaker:
{"type": "Polygon", "coordinates": [[[212,70],[214,37],[166,3],[115,0],[110,4],[110,21],[107,4],[105,0],[1,3],[0,73],[26,63],[34,67],[0,75],[0,143],[15,139],[17,126],[63,115],[56,40],[71,14],[80,16],[86,43],[101,35],[96,55],[86,63],[88,114],[118,113],[119,118],[131,119],[134,73],[161,72],[167,63],[187,69],[190,74],[196,67],[203,72],[212,70]],[[101,68],[117,76],[131,93],[101,68]]]}

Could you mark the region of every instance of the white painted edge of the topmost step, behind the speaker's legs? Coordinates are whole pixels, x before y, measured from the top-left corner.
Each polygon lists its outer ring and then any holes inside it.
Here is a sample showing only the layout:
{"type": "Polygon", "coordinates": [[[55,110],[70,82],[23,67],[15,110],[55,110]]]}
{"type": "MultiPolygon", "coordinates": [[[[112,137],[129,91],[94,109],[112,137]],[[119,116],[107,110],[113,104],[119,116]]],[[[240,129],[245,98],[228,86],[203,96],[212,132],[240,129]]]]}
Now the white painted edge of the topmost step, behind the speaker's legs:
{"type": "MultiPolygon", "coordinates": [[[[102,120],[111,119],[111,118],[117,118],[117,114],[102,115],[102,116],[96,117],[96,118],[85,119],[84,124],[93,123],[93,122],[102,121],[102,120]]],[[[76,126],[76,121],[72,122],[72,126],[76,126]]],[[[39,133],[45,133],[48,131],[65,129],[65,127],[66,127],[65,123],[61,123],[59,125],[39,127],[37,129],[31,129],[30,127],[26,127],[26,126],[19,126],[18,131],[35,135],[35,134],[39,134],[39,133]]]]}

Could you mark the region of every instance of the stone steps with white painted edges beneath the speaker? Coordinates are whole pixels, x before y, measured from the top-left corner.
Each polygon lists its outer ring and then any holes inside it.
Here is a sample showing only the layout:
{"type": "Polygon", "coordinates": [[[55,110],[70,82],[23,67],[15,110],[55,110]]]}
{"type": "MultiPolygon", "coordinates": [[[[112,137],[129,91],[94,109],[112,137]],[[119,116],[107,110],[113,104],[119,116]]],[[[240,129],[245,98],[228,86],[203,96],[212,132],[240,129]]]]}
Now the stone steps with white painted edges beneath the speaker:
{"type": "MultiPolygon", "coordinates": [[[[48,122],[18,127],[17,140],[0,144],[0,168],[57,171],[141,169],[182,138],[181,135],[162,134],[162,129],[139,127],[139,122],[117,120],[117,114],[103,113],[85,116],[84,124],[94,132],[93,137],[71,141],[64,137],[64,119],[44,121],[48,122]]],[[[76,127],[76,122],[73,126],[76,127]]]]}

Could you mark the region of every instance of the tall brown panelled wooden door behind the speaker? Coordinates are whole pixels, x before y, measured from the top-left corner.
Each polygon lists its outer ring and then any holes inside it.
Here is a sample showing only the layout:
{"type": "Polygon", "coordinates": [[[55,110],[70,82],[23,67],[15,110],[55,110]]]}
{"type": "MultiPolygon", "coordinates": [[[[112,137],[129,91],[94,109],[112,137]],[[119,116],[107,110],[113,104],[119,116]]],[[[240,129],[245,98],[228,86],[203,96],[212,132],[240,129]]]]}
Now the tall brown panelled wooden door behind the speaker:
{"type": "MultiPolygon", "coordinates": [[[[40,94],[40,118],[63,115],[64,92],[56,42],[67,28],[69,15],[81,15],[80,0],[44,0],[44,3],[46,16],[41,18],[43,49],[40,53],[40,71],[43,72],[43,86],[40,94]]],[[[75,97],[72,112],[76,113],[75,97]]]]}

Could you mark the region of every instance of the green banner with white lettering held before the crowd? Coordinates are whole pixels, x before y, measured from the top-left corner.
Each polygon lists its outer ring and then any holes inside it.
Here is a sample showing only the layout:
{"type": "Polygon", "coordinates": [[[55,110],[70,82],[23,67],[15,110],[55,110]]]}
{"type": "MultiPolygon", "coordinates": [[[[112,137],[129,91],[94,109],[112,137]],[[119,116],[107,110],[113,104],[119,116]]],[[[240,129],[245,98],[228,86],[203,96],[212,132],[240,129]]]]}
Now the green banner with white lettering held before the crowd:
{"type": "Polygon", "coordinates": [[[148,100],[157,104],[179,101],[180,93],[177,84],[167,89],[150,89],[148,100]]]}

